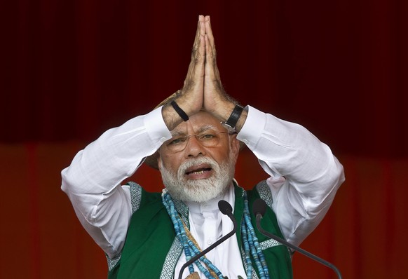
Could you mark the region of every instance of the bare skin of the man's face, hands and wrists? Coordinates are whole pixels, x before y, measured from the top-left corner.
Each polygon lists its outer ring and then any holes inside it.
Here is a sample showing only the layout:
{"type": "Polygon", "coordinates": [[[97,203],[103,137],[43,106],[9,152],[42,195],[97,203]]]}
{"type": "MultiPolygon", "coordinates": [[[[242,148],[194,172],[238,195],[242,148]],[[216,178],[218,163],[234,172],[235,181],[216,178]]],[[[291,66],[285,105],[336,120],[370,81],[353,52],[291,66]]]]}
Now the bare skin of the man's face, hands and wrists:
{"type": "MultiPolygon", "coordinates": [[[[175,100],[189,116],[189,121],[182,118],[170,104],[162,109],[163,119],[172,132],[181,131],[187,135],[195,134],[203,125],[214,125],[216,130],[226,131],[220,121],[226,121],[231,115],[236,102],[226,95],[217,67],[217,52],[212,34],[210,16],[198,17],[197,31],[191,51],[191,62],[184,80],[182,90],[175,100]]],[[[243,111],[236,125],[236,130],[245,123],[246,112],[243,111]]],[[[227,160],[229,151],[233,153],[236,163],[239,153],[239,141],[236,135],[222,135],[222,141],[216,147],[203,147],[196,137],[190,137],[186,148],[177,153],[170,152],[165,144],[158,150],[158,168],[163,166],[177,172],[184,161],[198,156],[208,156],[221,164],[227,160]],[[163,165],[162,165],[163,164],[163,165]]],[[[205,179],[214,175],[208,165],[196,165],[185,173],[187,179],[205,179]]]]}

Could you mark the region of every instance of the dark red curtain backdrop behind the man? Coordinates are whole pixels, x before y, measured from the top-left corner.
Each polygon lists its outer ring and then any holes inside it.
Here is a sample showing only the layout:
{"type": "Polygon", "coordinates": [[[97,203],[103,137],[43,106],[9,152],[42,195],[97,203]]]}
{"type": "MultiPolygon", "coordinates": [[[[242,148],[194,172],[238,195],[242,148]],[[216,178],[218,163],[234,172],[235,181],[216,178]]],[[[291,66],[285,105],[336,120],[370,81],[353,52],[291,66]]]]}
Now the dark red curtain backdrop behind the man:
{"type": "MultiPolygon", "coordinates": [[[[182,87],[199,14],[211,16],[226,91],[306,126],[345,166],[302,247],[344,278],[408,275],[407,1],[17,0],[0,11],[0,278],[106,277],[60,170],[182,87]]],[[[266,176],[244,151],[237,177],[266,176]]],[[[132,179],[160,189],[147,167],[132,179]]],[[[335,278],[301,255],[294,268],[335,278]]]]}

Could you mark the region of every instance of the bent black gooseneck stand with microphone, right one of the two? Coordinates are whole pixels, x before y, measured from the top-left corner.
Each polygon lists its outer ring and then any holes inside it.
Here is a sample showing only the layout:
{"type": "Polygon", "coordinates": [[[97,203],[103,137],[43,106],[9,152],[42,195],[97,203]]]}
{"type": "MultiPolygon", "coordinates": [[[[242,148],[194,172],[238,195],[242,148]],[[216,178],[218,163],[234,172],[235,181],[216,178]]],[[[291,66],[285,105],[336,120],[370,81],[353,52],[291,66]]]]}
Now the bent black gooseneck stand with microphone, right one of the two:
{"type": "MultiPolygon", "coordinates": [[[[262,199],[258,199],[255,200],[254,203],[264,203],[265,204],[265,210],[264,213],[266,211],[266,203],[264,200],[262,199]]],[[[255,206],[254,206],[255,207],[255,206]]],[[[262,211],[262,210],[261,210],[262,211]]],[[[261,219],[263,217],[263,214],[261,212],[254,212],[257,215],[257,229],[264,235],[267,236],[269,238],[272,238],[273,240],[278,241],[279,243],[282,243],[283,245],[285,245],[286,247],[290,247],[293,250],[304,254],[306,257],[309,257],[311,259],[314,259],[315,261],[318,261],[320,264],[323,264],[329,268],[332,268],[332,270],[336,273],[337,277],[339,279],[341,279],[341,273],[339,271],[338,268],[336,268],[336,266],[334,266],[334,264],[329,263],[328,261],[325,261],[324,259],[321,259],[320,257],[315,256],[314,254],[311,254],[310,252],[307,252],[306,250],[301,249],[300,247],[297,247],[295,245],[293,245],[292,243],[288,243],[286,240],[284,240],[283,238],[280,238],[278,236],[275,236],[273,233],[268,233],[268,231],[265,231],[262,227],[261,227],[261,219]]]]}

